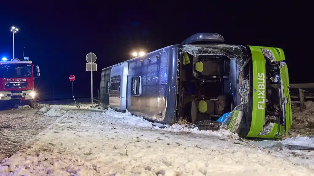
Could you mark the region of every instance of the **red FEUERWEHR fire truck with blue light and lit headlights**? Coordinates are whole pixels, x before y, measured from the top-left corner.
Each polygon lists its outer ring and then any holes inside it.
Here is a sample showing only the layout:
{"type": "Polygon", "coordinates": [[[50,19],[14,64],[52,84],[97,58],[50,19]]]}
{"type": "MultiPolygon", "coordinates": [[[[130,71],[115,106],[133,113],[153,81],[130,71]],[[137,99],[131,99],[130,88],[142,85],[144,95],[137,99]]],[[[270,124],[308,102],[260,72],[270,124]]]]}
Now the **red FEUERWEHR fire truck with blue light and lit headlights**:
{"type": "Polygon", "coordinates": [[[0,62],[0,107],[25,104],[34,107],[34,79],[40,76],[39,66],[24,59],[2,58],[0,62]]]}

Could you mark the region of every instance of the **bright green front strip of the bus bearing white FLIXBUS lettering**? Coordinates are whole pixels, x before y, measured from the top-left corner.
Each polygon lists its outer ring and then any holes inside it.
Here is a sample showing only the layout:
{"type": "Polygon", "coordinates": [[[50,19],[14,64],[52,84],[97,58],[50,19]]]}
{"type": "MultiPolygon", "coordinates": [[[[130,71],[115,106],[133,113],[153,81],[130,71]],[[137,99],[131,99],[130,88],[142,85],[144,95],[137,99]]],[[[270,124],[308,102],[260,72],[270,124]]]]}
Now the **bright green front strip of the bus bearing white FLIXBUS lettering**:
{"type": "Polygon", "coordinates": [[[265,59],[262,50],[258,46],[249,47],[251,49],[253,62],[253,106],[252,123],[247,137],[257,137],[258,134],[263,130],[265,119],[266,70],[265,59]]]}

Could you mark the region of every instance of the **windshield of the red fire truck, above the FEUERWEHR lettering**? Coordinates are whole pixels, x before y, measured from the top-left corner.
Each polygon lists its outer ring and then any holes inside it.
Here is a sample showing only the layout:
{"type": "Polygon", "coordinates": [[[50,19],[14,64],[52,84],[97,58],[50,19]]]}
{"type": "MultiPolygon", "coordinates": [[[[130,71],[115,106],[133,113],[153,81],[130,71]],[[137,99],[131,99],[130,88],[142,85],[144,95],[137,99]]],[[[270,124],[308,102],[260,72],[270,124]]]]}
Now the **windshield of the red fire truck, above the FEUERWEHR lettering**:
{"type": "Polygon", "coordinates": [[[0,65],[1,78],[31,77],[32,66],[30,64],[3,64],[0,65]]]}

